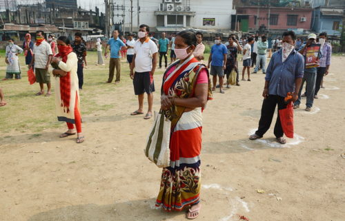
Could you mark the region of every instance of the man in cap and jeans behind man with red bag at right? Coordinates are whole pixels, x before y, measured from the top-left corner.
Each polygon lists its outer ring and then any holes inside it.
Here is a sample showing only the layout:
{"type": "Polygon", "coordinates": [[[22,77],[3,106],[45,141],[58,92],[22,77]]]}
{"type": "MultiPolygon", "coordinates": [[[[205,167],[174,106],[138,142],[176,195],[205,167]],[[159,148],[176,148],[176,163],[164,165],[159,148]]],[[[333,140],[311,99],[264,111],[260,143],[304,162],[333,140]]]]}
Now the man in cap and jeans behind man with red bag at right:
{"type": "MultiPolygon", "coordinates": [[[[306,51],[307,48],[310,45],[313,45],[316,43],[316,34],[312,33],[308,35],[308,41],[304,45],[302,45],[302,49],[299,50],[299,53],[301,53],[304,56],[304,76],[302,79],[302,85],[299,89],[298,93],[298,99],[295,101],[293,109],[299,108],[299,105],[301,104],[301,94],[304,82],[306,82],[306,111],[310,112],[311,107],[313,107],[314,102],[314,93],[315,93],[315,82],[316,82],[316,72],[317,67],[306,67],[306,51]]],[[[321,52],[318,54],[318,58],[322,56],[321,52]]]]}

